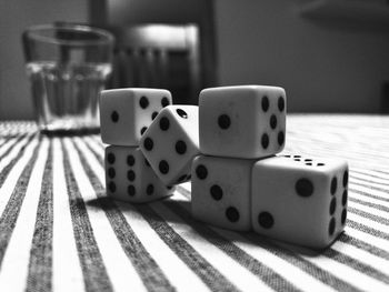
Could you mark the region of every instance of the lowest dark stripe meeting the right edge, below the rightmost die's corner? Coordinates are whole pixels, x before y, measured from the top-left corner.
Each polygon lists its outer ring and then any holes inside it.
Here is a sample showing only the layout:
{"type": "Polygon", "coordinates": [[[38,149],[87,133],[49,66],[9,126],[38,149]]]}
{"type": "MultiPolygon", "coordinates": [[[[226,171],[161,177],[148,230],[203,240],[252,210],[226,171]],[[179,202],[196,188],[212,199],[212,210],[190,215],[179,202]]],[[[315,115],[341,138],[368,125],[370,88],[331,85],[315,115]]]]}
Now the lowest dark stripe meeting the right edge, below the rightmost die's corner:
{"type": "MultiPolygon", "coordinates": [[[[326,255],[329,259],[332,259],[339,263],[342,263],[356,271],[361,272],[362,274],[366,274],[368,276],[371,276],[378,281],[381,281],[386,284],[389,284],[389,276],[386,275],[385,273],[381,273],[380,271],[378,271],[377,269],[367,265],[349,255],[346,255],[341,252],[338,252],[333,249],[328,249],[323,252],[323,255],[326,255]]],[[[371,263],[373,264],[373,263],[371,263]]]]}

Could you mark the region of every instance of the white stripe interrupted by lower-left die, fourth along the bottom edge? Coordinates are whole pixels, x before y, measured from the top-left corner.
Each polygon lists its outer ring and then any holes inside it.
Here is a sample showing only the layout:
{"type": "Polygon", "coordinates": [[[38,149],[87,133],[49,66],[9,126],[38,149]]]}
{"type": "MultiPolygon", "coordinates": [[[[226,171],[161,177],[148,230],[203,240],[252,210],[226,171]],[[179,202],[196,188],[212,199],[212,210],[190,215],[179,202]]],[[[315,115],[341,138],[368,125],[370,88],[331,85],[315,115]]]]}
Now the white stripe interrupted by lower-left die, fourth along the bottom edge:
{"type": "MultiPolygon", "coordinates": [[[[81,143],[80,139],[76,139],[77,144],[84,154],[89,165],[94,174],[104,184],[104,169],[97,161],[97,159],[88,151],[86,145],[81,143]]],[[[120,210],[130,223],[132,230],[138,235],[139,240],[150,253],[150,255],[160,265],[169,282],[179,291],[186,291],[190,288],[192,291],[207,291],[207,286],[201,280],[192,273],[189,268],[181,262],[181,260],[163,243],[163,241],[152,231],[150,225],[142,219],[142,217],[131,207],[131,204],[120,204],[120,210]],[[177,271],[179,271],[179,276],[177,271]]]]}

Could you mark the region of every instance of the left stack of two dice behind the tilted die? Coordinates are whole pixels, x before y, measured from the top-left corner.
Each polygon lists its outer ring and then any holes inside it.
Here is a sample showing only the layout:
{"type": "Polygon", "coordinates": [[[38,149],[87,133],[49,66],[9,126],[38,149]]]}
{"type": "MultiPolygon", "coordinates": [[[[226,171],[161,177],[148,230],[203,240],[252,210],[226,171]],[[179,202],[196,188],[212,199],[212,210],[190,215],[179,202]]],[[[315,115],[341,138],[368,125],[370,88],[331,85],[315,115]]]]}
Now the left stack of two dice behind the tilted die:
{"type": "Polygon", "coordinates": [[[173,188],[156,175],[139,148],[141,137],[171,101],[170,92],[161,89],[101,92],[101,139],[110,144],[106,148],[106,183],[111,198],[142,203],[172,194],[173,188]]]}

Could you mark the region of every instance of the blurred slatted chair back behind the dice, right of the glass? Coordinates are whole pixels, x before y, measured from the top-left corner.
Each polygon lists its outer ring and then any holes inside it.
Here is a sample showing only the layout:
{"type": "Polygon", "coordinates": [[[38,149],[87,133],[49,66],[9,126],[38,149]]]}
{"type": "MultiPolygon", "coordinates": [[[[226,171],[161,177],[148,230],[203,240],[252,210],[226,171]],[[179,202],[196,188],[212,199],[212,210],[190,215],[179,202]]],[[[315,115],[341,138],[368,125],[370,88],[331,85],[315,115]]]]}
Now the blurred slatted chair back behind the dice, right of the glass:
{"type": "Polygon", "coordinates": [[[117,40],[111,88],[163,88],[171,91],[174,103],[198,103],[197,26],[141,24],[109,30],[117,40]]]}

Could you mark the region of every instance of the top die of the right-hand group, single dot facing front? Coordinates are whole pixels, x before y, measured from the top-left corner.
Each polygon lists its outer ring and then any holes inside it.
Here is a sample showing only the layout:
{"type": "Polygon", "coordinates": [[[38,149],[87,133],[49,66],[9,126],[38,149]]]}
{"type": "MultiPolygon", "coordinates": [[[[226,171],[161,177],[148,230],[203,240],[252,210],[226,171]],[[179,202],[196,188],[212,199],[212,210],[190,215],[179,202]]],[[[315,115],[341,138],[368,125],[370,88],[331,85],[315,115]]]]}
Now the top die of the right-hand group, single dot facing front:
{"type": "Polygon", "coordinates": [[[282,88],[239,85],[205,89],[199,98],[200,151],[255,159],[285,147],[286,93],[282,88]]]}

